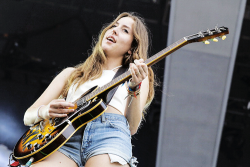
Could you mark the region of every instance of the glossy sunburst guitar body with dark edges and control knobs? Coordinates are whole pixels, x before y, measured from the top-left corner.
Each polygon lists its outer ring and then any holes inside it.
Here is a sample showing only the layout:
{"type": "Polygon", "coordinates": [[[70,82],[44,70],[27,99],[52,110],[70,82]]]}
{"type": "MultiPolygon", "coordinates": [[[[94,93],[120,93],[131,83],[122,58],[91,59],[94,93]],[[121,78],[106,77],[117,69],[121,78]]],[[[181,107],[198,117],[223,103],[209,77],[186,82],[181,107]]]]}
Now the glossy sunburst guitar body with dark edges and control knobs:
{"type": "Polygon", "coordinates": [[[107,106],[102,99],[95,99],[79,106],[75,104],[75,108],[76,111],[66,118],[43,120],[30,127],[17,142],[14,158],[22,165],[31,157],[34,162],[43,160],[66,143],[78,129],[105,112],[107,106]]]}

